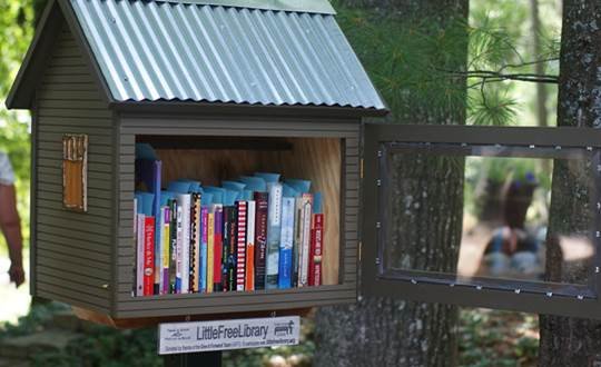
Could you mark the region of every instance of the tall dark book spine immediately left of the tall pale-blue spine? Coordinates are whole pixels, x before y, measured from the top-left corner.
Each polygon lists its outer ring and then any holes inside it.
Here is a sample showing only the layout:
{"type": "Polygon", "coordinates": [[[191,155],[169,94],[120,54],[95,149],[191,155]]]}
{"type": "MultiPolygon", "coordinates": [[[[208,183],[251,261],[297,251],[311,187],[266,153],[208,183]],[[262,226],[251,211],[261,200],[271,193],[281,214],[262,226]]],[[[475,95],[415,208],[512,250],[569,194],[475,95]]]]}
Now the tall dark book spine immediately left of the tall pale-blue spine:
{"type": "Polygon", "coordinates": [[[267,259],[267,192],[255,192],[255,289],[265,289],[265,266],[267,259]]]}

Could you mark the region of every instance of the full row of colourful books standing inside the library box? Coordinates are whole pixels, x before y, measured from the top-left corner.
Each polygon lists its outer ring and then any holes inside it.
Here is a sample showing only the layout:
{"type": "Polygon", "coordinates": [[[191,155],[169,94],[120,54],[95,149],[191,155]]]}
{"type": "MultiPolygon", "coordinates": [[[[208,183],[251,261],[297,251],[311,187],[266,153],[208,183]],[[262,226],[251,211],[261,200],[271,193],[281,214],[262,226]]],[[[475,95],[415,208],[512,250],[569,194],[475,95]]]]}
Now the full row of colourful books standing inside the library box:
{"type": "Polygon", "coordinates": [[[311,181],[257,172],[164,188],[151,147],[136,156],[134,296],[322,284],[323,198],[311,181]]]}

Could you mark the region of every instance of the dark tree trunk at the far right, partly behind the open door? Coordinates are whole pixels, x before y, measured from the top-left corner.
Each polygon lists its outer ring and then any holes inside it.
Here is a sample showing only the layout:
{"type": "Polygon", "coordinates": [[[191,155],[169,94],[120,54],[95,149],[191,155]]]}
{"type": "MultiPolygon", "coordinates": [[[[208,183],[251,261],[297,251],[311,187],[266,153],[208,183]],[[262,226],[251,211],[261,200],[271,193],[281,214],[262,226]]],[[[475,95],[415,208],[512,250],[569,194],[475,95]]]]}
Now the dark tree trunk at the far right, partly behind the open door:
{"type": "MultiPolygon", "coordinates": [[[[601,3],[599,0],[564,0],[560,56],[558,125],[601,127],[601,3]]],[[[566,274],[556,241],[558,234],[587,231],[590,218],[588,191],[581,177],[570,175],[555,161],[549,220],[546,276],[573,281],[566,274]]],[[[540,366],[598,366],[601,364],[601,323],[540,316],[540,366]]]]}

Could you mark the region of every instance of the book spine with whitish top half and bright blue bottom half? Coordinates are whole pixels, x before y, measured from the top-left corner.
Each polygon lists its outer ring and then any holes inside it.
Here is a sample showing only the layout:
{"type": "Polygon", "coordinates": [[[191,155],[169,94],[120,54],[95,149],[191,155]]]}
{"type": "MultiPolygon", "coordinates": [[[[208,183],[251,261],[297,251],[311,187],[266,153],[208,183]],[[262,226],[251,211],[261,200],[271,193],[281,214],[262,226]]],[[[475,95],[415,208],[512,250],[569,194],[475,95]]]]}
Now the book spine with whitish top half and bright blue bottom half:
{"type": "Polygon", "coordinates": [[[282,235],[279,241],[279,269],[278,288],[292,287],[292,260],[294,242],[294,210],[295,199],[284,197],[282,199],[282,235]]]}

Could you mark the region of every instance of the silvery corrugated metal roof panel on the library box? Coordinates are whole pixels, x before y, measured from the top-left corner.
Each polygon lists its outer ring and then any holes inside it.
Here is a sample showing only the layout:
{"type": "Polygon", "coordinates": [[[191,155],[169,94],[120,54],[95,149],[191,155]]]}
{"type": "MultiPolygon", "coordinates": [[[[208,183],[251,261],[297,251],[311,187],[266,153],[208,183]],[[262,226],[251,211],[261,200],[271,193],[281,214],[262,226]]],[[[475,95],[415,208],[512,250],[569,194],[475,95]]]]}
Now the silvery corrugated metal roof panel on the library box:
{"type": "Polygon", "coordinates": [[[384,109],[332,14],[71,0],[117,101],[384,109]]]}

